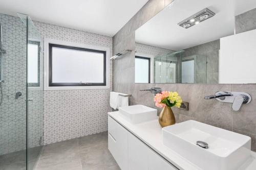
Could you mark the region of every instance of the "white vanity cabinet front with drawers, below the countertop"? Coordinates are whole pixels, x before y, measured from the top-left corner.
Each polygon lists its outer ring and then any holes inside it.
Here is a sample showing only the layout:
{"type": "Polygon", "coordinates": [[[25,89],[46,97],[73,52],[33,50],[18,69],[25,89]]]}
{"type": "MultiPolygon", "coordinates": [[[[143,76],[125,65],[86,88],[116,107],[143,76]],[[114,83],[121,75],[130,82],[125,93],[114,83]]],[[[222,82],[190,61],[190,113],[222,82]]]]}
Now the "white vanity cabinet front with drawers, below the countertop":
{"type": "Polygon", "coordinates": [[[177,170],[110,116],[109,150],[122,170],[177,170]]]}

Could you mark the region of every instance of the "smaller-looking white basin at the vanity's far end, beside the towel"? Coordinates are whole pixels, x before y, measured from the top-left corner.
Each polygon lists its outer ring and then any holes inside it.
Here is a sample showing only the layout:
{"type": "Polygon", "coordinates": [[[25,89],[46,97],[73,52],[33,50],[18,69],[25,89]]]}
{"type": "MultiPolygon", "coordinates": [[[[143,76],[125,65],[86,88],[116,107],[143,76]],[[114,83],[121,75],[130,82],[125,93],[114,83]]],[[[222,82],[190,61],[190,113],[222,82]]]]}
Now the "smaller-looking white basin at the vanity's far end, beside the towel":
{"type": "Polygon", "coordinates": [[[119,113],[130,123],[138,124],[157,119],[157,109],[143,105],[119,107],[119,113]]]}

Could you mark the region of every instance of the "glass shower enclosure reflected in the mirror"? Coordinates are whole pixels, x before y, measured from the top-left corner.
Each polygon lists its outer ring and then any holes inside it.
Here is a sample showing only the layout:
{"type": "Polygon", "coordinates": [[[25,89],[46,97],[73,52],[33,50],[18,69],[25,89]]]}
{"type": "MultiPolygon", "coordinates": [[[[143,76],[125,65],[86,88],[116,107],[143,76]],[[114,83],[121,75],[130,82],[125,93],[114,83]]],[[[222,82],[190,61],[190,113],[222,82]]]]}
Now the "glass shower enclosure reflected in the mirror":
{"type": "Polygon", "coordinates": [[[184,50],[154,58],[155,83],[207,83],[207,56],[184,50]]]}

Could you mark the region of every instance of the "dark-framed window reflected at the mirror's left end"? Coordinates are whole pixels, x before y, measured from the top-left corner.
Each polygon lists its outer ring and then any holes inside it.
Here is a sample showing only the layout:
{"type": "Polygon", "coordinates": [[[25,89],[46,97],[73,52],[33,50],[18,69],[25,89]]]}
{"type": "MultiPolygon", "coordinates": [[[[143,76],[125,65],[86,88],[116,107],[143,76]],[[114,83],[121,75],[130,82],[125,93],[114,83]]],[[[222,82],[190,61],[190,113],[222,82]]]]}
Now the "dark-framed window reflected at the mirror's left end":
{"type": "Polygon", "coordinates": [[[135,83],[150,83],[150,58],[135,56],[135,83]]]}

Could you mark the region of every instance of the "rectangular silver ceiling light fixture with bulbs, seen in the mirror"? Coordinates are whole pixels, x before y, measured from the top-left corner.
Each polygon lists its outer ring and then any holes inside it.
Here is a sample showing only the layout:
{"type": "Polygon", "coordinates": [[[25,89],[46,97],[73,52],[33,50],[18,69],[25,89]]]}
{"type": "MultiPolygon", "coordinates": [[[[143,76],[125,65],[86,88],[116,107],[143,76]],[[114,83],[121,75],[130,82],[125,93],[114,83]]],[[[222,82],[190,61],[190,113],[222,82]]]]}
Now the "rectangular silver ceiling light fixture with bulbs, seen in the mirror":
{"type": "Polygon", "coordinates": [[[192,26],[198,25],[198,23],[209,19],[210,17],[214,16],[215,13],[209,10],[208,8],[205,8],[198,13],[184,19],[183,21],[179,22],[178,25],[180,27],[183,27],[185,29],[188,29],[192,26]]]}

